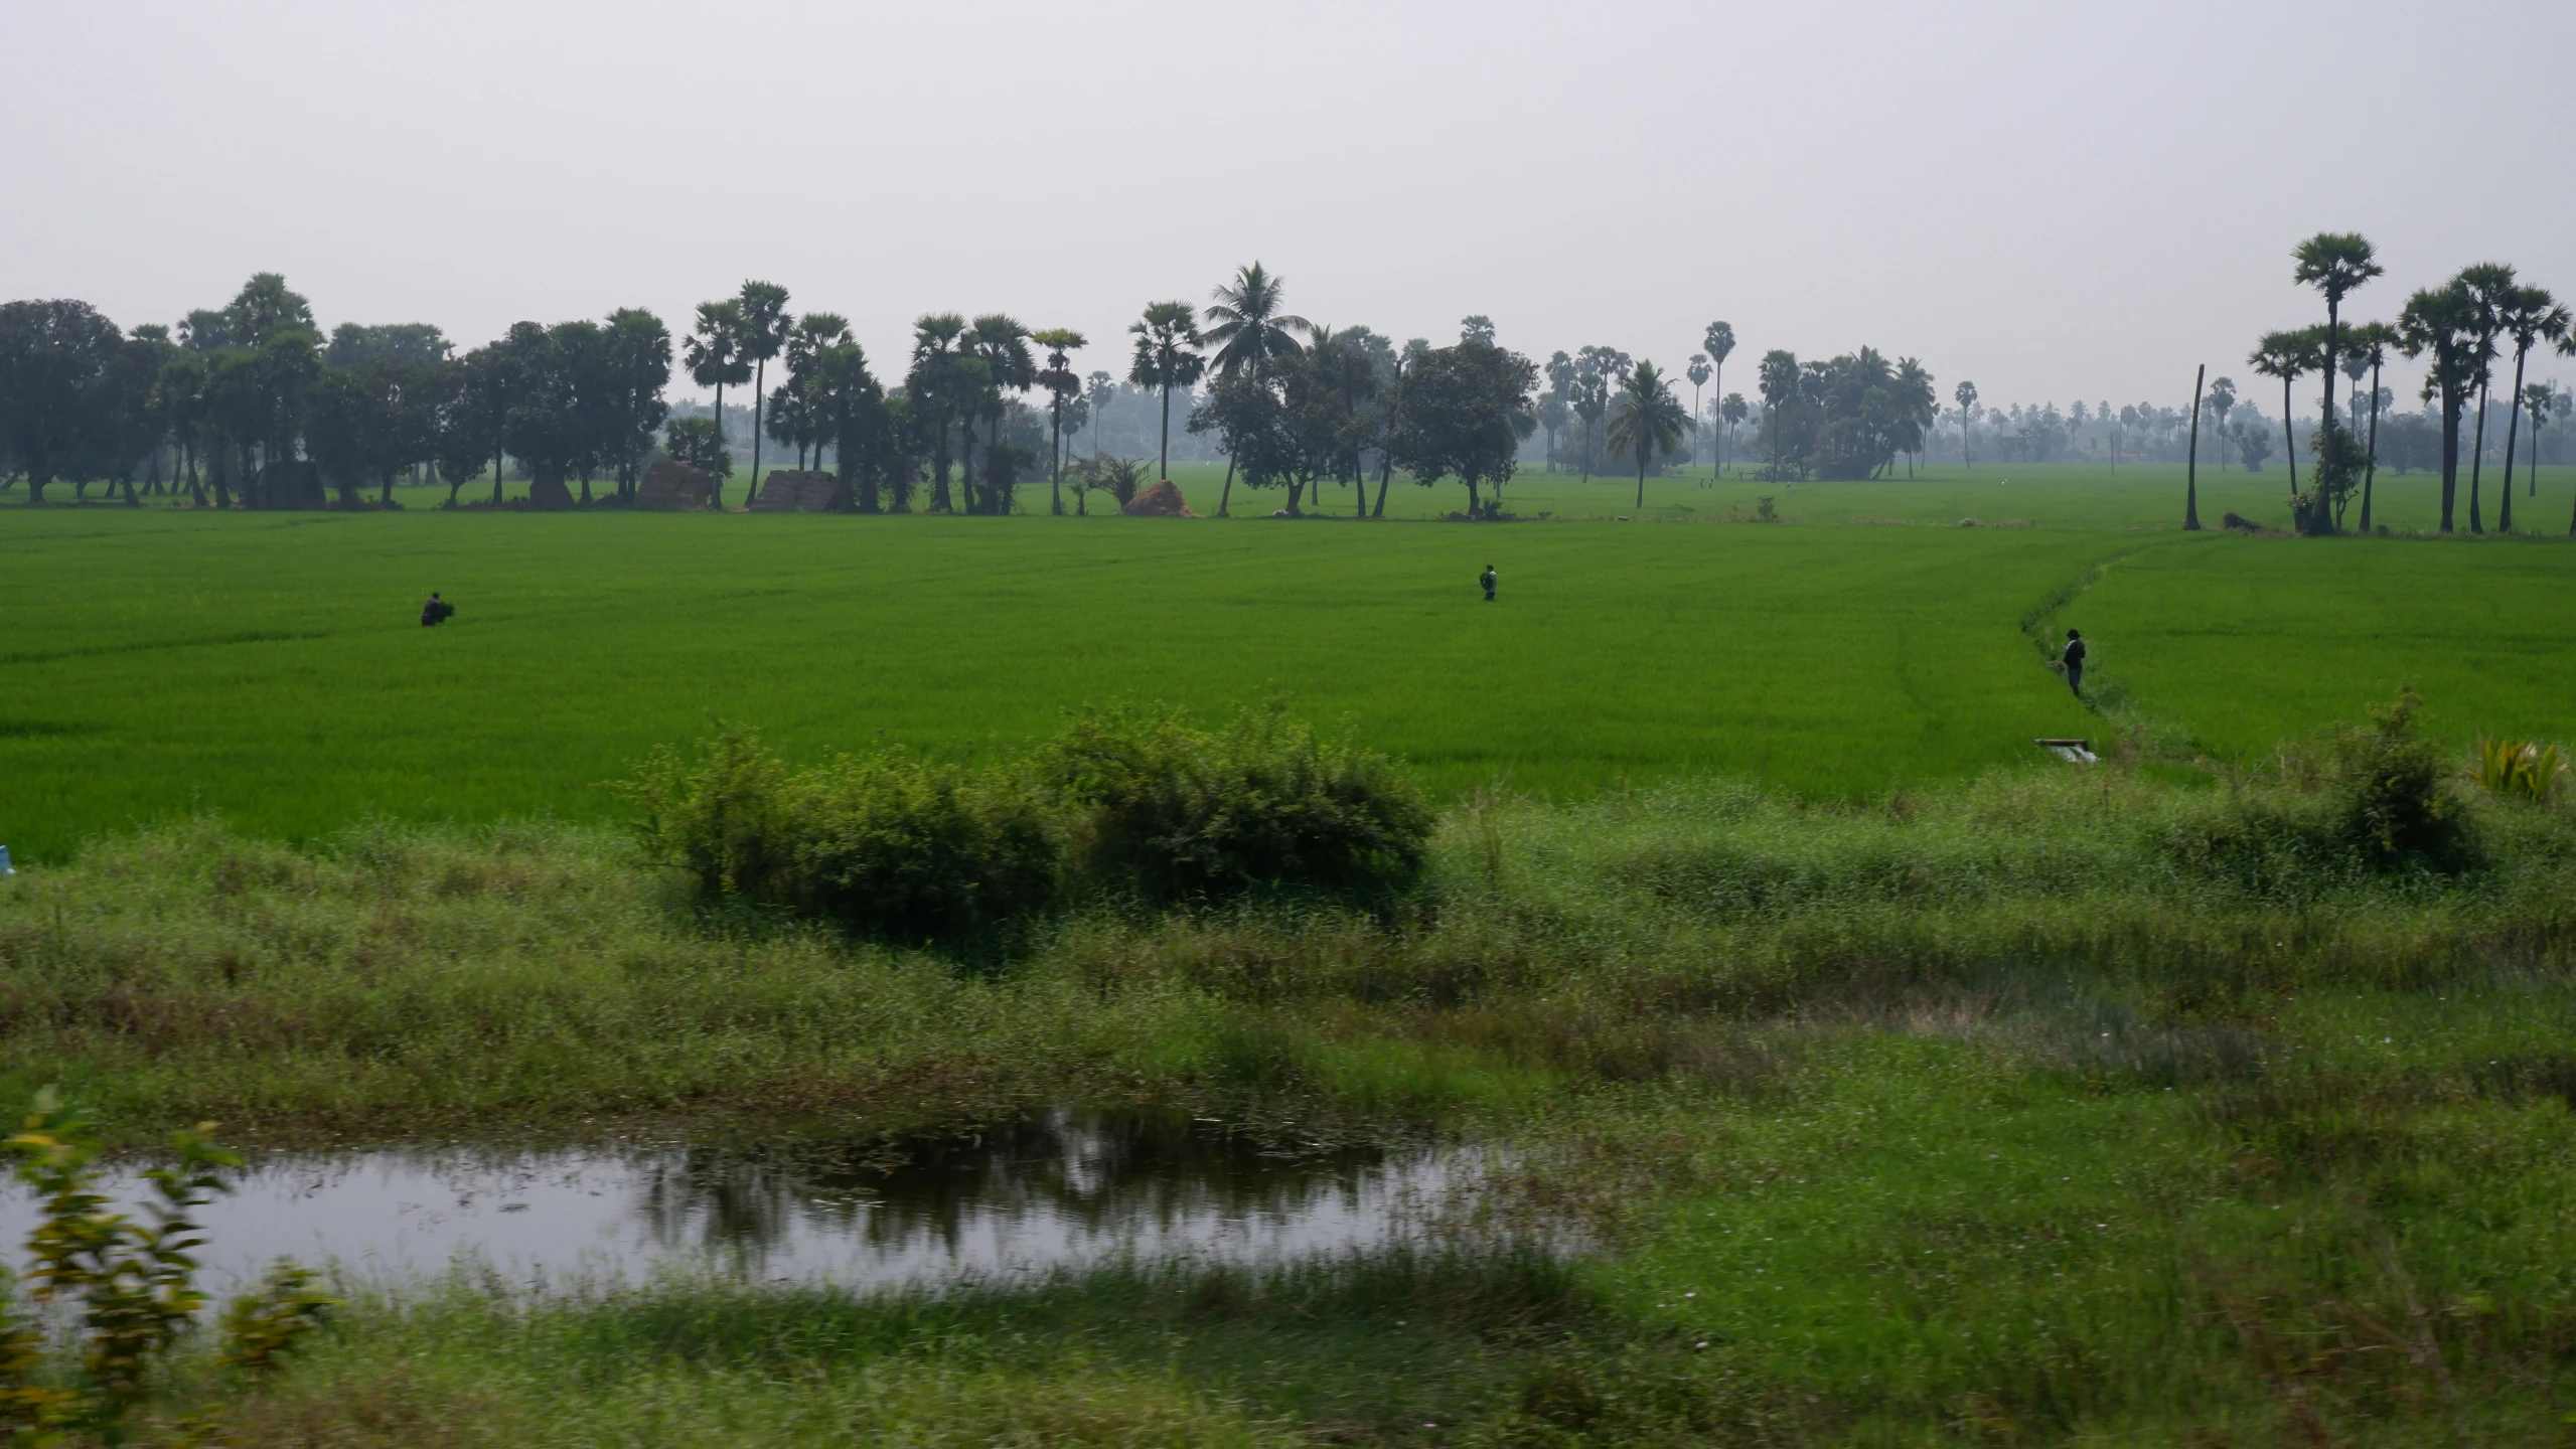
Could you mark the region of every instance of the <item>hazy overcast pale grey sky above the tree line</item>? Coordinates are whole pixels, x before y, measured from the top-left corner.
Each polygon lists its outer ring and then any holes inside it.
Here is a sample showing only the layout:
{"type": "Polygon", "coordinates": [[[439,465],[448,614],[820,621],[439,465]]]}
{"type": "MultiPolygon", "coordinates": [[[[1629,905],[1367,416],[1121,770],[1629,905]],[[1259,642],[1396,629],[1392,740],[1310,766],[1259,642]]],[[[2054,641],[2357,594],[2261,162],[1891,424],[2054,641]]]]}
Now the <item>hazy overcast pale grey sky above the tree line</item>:
{"type": "Polygon", "coordinates": [[[121,324],[283,270],[474,345],[768,278],[881,373],[930,309],[1123,371],[1260,257],[1399,340],[1677,365],[1723,317],[1734,391],[1868,342],[2069,404],[2241,378],[2318,229],[2380,245],[2362,317],[2576,291],[2568,0],[0,0],[0,296],[121,324]]]}

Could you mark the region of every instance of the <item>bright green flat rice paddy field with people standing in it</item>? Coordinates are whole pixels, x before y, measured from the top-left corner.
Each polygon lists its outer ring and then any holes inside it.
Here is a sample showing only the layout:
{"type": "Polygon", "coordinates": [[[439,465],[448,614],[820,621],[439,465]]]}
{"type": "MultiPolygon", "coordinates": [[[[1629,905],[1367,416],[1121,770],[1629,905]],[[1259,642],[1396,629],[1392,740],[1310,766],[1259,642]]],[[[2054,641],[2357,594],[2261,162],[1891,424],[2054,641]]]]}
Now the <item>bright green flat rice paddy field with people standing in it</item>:
{"type": "MultiPolygon", "coordinates": [[[[1175,471],[1213,512],[1218,476],[1175,471]]],[[[2202,512],[2267,520],[2277,486],[2205,476],[2202,512]]],[[[2385,512],[2429,522],[2429,486],[2391,481],[2385,512]]],[[[2179,468],[1654,479],[1610,522],[1631,489],[1535,474],[1512,507],[1566,522],[1489,528],[1396,520],[1455,502],[1401,481],[1370,525],[1247,517],[1283,502],[1247,489],[1226,522],[1054,520],[1043,489],[1010,520],[425,507],[443,489],[394,515],[10,507],[0,844],[59,860],[191,813],[286,839],[595,818],[618,811],[595,782],[708,718],[791,757],[961,752],[1092,703],[1270,695],[1440,793],[1744,775],[1868,795],[2102,734],[2025,636],[2043,618],[2087,628],[2112,697],[2221,754],[2401,682],[2460,741],[2571,734],[2576,548],[2555,538],[2187,535],[2179,468]],[[1710,522],[1759,497],[1785,522],[1710,522]],[[453,625],[415,623],[428,589],[453,625]]],[[[2524,517],[2566,497],[2543,474],[2524,517]]]]}

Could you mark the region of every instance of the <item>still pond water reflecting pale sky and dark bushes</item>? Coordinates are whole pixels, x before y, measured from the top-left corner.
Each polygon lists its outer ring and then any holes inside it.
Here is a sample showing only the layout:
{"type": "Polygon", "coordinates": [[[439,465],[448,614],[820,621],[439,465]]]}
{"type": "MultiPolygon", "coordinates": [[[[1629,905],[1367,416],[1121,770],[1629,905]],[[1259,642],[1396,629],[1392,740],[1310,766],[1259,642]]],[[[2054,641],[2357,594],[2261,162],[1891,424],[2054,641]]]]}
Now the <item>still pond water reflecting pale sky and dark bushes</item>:
{"type": "MultiPolygon", "coordinates": [[[[278,1259],[404,1282],[940,1287],[1133,1261],[1283,1261],[1388,1246],[1473,1181],[1461,1150],[1324,1148],[1177,1112],[1051,1109],[953,1138],[263,1156],[204,1212],[209,1287],[278,1259]]],[[[121,1207],[142,1202],[134,1168],[121,1207]]],[[[33,1228],[0,1199],[0,1248],[33,1228]]]]}

